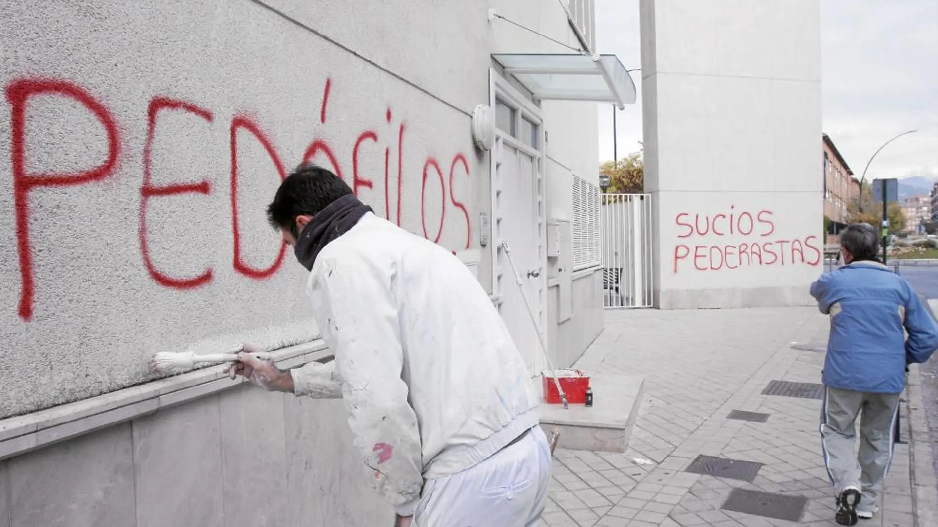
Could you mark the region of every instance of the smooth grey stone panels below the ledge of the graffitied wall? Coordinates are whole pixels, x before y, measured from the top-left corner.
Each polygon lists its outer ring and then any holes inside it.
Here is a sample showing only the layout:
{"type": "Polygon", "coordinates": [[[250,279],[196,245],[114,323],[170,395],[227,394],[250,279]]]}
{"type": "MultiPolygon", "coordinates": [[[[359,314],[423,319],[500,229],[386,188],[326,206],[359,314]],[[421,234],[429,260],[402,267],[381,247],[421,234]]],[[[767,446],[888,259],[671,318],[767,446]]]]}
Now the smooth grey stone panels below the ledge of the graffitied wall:
{"type": "Polygon", "coordinates": [[[0,462],[0,527],[390,525],[340,401],[245,386],[0,462]]]}

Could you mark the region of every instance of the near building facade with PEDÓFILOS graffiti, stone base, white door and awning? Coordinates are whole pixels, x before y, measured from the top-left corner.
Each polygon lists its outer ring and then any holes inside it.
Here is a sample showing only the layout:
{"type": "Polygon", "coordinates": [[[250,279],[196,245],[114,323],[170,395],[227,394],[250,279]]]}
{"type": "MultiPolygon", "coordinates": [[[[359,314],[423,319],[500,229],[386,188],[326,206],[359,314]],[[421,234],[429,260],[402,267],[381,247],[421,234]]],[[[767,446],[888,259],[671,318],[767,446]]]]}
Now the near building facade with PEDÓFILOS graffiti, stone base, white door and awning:
{"type": "Polygon", "coordinates": [[[459,256],[532,376],[538,336],[563,366],[601,330],[576,212],[595,101],[635,93],[592,1],[0,8],[0,526],[390,524],[341,402],[146,368],[242,342],[330,359],[265,223],[300,161],[459,256]]]}

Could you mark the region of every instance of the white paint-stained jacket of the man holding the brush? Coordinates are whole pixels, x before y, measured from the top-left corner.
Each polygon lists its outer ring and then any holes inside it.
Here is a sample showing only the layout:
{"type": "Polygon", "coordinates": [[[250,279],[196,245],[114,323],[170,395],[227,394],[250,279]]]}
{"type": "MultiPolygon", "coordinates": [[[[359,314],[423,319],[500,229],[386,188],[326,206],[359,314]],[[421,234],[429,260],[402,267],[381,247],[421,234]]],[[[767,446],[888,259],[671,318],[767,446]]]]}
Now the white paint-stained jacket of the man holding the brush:
{"type": "Polygon", "coordinates": [[[369,213],[325,246],[308,290],[336,359],[295,369],[295,393],[345,401],[368,476],[402,516],[424,478],[465,470],[537,425],[501,316],[443,247],[369,213]]]}

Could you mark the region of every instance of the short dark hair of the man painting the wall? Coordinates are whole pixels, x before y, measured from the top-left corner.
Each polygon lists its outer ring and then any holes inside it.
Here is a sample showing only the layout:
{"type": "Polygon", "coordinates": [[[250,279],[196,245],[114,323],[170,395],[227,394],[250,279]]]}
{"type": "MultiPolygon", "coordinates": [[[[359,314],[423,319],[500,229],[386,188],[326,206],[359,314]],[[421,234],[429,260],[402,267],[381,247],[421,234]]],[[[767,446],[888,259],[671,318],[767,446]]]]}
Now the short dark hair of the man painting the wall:
{"type": "Polygon", "coordinates": [[[352,194],[352,189],[339,176],[304,163],[280,183],[274,200],[267,205],[267,221],[274,228],[292,228],[296,216],[315,216],[347,194],[352,194]]]}

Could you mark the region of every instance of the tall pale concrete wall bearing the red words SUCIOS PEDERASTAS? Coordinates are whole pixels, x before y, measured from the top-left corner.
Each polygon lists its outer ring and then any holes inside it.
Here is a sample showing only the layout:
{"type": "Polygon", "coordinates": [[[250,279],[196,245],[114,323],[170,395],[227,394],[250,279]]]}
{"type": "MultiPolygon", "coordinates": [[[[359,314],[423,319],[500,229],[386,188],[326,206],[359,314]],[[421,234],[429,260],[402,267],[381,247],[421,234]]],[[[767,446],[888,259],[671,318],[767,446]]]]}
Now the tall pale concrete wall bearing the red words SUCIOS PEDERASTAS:
{"type": "Polygon", "coordinates": [[[818,0],[643,0],[661,308],[796,305],[823,265],[818,0]]]}

